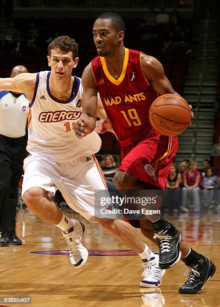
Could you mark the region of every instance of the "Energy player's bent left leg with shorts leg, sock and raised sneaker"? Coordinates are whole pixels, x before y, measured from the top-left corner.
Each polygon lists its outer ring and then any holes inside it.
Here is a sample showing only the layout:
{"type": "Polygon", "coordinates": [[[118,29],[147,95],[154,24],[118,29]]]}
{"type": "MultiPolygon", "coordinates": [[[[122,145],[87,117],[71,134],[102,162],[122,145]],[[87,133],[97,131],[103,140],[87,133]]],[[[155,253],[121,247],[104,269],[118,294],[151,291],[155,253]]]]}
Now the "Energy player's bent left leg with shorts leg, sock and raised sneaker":
{"type": "Polygon", "coordinates": [[[24,160],[22,197],[27,207],[38,217],[62,230],[68,247],[70,261],[75,267],[87,260],[87,250],[80,243],[85,235],[85,225],[78,220],[67,218],[51,201],[60,182],[61,168],[53,162],[32,155],[24,160]]]}

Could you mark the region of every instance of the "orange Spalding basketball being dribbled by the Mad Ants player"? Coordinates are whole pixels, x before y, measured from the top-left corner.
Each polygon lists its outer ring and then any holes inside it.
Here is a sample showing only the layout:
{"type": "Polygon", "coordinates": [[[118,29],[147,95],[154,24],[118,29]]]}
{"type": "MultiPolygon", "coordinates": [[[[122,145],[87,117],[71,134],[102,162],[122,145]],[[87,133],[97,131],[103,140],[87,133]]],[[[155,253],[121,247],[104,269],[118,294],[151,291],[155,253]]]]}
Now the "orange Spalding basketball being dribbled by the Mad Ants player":
{"type": "Polygon", "coordinates": [[[149,109],[149,121],[162,135],[182,133],[190,124],[190,120],[190,107],[179,95],[161,95],[153,101],[149,109]]]}

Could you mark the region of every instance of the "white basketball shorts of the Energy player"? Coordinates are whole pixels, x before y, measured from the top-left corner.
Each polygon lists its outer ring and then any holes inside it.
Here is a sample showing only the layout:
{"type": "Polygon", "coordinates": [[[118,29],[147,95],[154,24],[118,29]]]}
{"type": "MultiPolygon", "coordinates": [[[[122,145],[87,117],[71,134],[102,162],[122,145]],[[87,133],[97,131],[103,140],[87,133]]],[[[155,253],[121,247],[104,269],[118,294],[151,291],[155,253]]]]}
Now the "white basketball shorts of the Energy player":
{"type": "Polygon", "coordinates": [[[52,162],[34,154],[24,159],[23,194],[33,187],[50,196],[58,189],[68,206],[90,222],[94,220],[94,190],[106,190],[101,168],[94,155],[65,162],[52,162]]]}

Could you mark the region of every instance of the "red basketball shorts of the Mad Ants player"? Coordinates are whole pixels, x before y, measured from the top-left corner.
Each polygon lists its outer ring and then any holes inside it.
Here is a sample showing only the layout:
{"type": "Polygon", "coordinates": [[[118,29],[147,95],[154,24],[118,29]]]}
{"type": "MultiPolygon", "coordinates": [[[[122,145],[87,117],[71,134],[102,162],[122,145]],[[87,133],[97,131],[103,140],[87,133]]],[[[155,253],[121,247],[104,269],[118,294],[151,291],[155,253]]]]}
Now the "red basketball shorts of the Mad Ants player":
{"type": "Polygon", "coordinates": [[[121,165],[118,171],[164,189],[178,148],[177,136],[149,134],[144,140],[121,146],[121,165]]]}

